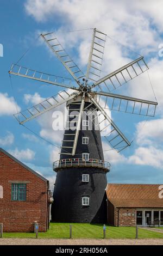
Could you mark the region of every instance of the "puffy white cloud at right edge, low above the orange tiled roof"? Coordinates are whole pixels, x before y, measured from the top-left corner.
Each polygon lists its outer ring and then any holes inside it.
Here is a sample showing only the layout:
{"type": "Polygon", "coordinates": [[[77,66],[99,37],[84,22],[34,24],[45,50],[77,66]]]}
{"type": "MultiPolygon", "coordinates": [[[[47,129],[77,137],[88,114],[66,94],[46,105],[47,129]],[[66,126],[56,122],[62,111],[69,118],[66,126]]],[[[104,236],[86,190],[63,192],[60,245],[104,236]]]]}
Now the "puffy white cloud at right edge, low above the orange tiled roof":
{"type": "Polygon", "coordinates": [[[163,150],[155,147],[139,147],[128,159],[129,163],[163,168],[163,150]]]}

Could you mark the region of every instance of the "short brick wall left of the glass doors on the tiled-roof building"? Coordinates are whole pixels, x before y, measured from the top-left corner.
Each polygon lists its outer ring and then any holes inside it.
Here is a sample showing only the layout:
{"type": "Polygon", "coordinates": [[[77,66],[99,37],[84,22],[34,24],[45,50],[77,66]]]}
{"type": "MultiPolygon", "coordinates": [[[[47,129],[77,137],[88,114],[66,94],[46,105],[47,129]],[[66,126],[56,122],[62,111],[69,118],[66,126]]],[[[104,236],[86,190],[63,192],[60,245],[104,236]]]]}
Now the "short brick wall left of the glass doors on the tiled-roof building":
{"type": "MultiPolygon", "coordinates": [[[[118,208],[114,210],[114,223],[118,225],[118,208]]],[[[136,225],[136,209],[133,208],[120,208],[119,210],[119,226],[130,226],[136,225]]]]}

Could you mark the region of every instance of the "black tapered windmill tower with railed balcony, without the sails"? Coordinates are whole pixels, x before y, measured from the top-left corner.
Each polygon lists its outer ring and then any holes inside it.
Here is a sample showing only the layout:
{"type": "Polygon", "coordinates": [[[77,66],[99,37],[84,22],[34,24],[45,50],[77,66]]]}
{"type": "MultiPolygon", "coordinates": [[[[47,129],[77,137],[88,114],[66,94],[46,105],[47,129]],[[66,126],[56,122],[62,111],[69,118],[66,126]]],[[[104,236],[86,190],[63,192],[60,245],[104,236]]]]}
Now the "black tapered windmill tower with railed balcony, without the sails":
{"type": "MultiPolygon", "coordinates": [[[[79,100],[80,97],[76,101],[67,102],[67,125],[77,125],[73,120],[80,110],[79,100]]],[[[85,113],[93,113],[93,119],[96,120],[96,107],[90,104],[89,99],[85,102],[84,109],[85,113]]],[[[60,160],[54,162],[57,178],[53,194],[52,221],[106,222],[105,188],[109,163],[104,162],[101,135],[96,123],[89,118],[89,114],[83,115],[73,157],[71,151],[76,129],[65,129],[60,160]]]]}

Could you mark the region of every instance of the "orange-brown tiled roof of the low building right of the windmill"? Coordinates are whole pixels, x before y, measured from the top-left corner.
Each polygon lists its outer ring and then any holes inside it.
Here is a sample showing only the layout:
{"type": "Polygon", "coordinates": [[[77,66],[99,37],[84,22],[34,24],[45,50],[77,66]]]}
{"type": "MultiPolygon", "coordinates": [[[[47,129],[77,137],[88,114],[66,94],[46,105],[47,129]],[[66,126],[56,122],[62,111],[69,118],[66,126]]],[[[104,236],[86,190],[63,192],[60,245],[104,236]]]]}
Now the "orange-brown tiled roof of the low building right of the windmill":
{"type": "Polygon", "coordinates": [[[159,184],[108,184],[106,194],[115,207],[163,208],[159,184]]]}

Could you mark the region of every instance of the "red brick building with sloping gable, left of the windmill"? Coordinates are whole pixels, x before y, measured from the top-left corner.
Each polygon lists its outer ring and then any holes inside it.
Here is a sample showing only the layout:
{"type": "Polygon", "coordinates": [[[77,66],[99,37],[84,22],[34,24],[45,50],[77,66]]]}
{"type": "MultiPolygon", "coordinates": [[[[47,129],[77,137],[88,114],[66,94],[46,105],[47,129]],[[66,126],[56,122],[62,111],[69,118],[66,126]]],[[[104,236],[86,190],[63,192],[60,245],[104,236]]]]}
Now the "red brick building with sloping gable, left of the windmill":
{"type": "Polygon", "coordinates": [[[0,148],[0,222],[4,231],[47,231],[49,182],[0,148]]]}

